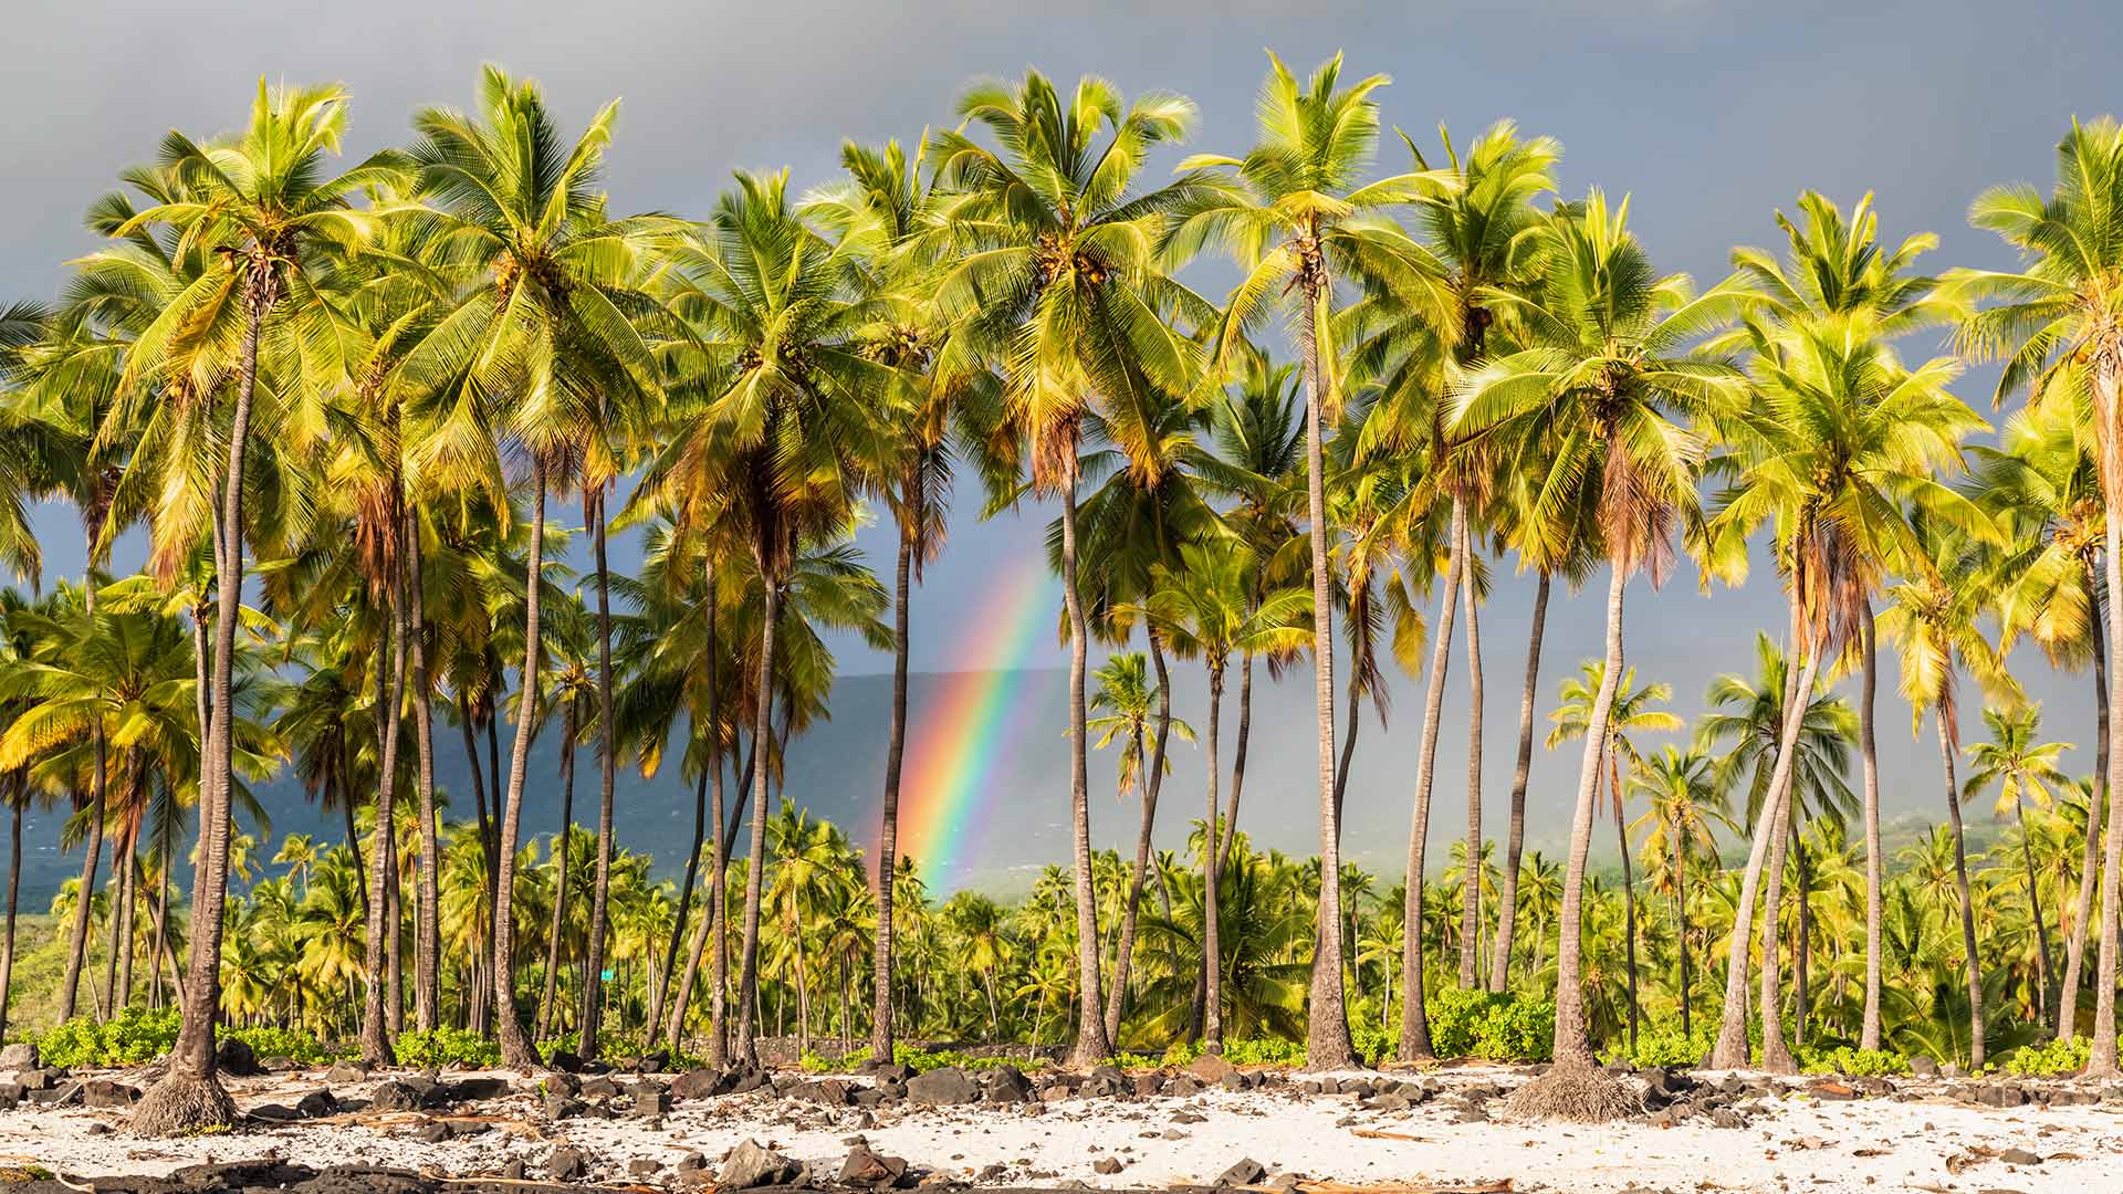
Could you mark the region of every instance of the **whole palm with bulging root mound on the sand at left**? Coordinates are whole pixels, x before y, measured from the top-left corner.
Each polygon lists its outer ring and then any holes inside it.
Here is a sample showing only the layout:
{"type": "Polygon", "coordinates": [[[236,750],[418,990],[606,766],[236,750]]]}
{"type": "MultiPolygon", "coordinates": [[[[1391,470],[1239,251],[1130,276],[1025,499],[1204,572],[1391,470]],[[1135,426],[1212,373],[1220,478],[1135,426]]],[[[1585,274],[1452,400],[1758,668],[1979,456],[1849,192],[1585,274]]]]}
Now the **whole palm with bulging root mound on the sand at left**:
{"type": "Polygon", "coordinates": [[[127,353],[123,399],[106,429],[136,423],[155,397],[212,404],[219,385],[234,385],[227,465],[217,478],[214,512],[217,614],[210,639],[206,710],[210,727],[200,763],[200,841],[191,877],[191,962],[185,969],[183,1028],[170,1054],[170,1073],[140,1101],[140,1135],[189,1132],[229,1124],[236,1107],[214,1079],[214,1013],[221,975],[221,911],[227,897],[229,795],[234,788],[234,663],[244,574],[244,459],[261,351],[276,363],[280,404],[297,406],[335,385],[344,361],[335,355],[331,308],[310,280],[312,266],[338,244],[355,244],[367,217],[348,208],[348,195],[399,176],[395,155],[378,155],[346,174],[323,166],[346,130],[346,91],[327,87],[272,89],[259,81],[244,132],[227,142],[200,144],[170,132],[161,144],[163,168],[183,176],[187,195],[155,204],[125,225],[130,234],[170,225],[180,238],[223,244],[223,270],[185,289],[127,353]],[[225,336],[202,334],[202,327],[225,336]],[[221,357],[236,346],[236,361],[221,357]]]}

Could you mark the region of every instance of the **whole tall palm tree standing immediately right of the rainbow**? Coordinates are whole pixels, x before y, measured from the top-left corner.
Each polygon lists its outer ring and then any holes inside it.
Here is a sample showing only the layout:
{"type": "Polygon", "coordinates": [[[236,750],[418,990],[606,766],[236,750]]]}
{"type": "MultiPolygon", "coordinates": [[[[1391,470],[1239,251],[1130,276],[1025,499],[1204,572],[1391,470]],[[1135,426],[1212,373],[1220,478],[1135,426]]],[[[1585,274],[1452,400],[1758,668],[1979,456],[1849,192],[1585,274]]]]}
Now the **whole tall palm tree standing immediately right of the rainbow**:
{"type": "MultiPolygon", "coordinates": [[[[1123,104],[1085,76],[1064,102],[1038,72],[1015,89],[981,83],[960,115],[987,127],[1000,153],[962,132],[930,142],[938,185],[953,195],[940,225],[960,253],[936,302],[1002,361],[1008,425],[1030,438],[1032,487],[1062,499],[1062,599],[1070,627],[1070,807],[1076,871],[1078,1007],[1072,1062],[1112,1052],[1102,1016],[1098,907],[1091,890],[1091,805],[1085,737],[1089,618],[1076,582],[1078,442],[1095,412],[1115,438],[1146,427],[1159,393],[1195,382],[1195,348],[1166,312],[1187,295],[1159,274],[1151,246],[1166,215],[1199,191],[1193,176],[1132,193],[1151,147],[1180,140],[1195,108],[1149,93],[1123,104]]],[[[1157,480],[1146,476],[1144,480],[1157,480]]]]}

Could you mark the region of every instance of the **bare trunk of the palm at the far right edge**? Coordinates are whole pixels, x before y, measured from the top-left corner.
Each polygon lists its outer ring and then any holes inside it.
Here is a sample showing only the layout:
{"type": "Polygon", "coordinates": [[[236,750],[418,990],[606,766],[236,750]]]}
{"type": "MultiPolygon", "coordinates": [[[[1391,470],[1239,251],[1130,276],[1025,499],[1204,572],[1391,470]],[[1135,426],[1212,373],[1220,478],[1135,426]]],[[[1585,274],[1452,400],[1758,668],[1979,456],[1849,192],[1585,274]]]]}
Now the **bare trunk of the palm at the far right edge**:
{"type": "MultiPolygon", "coordinates": [[[[2123,391],[2123,346],[2112,338],[2095,357],[2093,412],[2102,450],[2102,572],[2108,584],[2108,642],[2123,644],[2123,429],[2117,427],[2117,399],[2123,391]]],[[[2108,724],[2123,712],[2123,667],[2108,669],[2108,724]]],[[[2123,897],[2123,750],[2108,752],[2108,841],[2102,858],[2102,937],[2093,962],[2093,1041],[2087,1052],[2087,1077],[2117,1075],[2117,899],[2123,897]]],[[[2089,829],[2091,833],[2091,829],[2089,829]]]]}

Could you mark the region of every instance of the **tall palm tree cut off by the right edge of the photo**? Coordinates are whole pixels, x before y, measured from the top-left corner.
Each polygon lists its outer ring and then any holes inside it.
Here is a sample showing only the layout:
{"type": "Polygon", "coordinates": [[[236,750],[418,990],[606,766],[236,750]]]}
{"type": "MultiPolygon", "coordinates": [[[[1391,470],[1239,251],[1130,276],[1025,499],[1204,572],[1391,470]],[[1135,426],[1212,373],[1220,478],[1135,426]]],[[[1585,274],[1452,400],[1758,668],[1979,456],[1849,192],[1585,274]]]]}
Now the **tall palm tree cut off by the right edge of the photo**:
{"type": "MultiPolygon", "coordinates": [[[[2044,200],[2030,185],[1993,187],[1968,208],[2021,251],[2021,272],[1955,270],[1945,276],[1962,300],[1998,300],[1970,314],[1957,346],[1977,359],[2004,359],[1998,399],[2025,389],[2030,404],[2066,406],[2091,423],[2104,504],[2106,591],[2123,593],[2123,446],[2117,402],[2123,397],[2123,325],[2117,323],[2117,274],[2123,270],[2123,125],[2072,121],[2057,147],[2057,187],[2044,200]]],[[[2108,642],[2123,642],[2123,603],[2110,597],[2108,642]]],[[[2123,714],[2123,669],[2108,673],[2108,722],[2123,714]]],[[[2110,752],[2106,790],[2123,788],[2123,752],[2110,752]]],[[[2108,805],[2102,858],[2102,935],[2093,971],[2093,1043],[2087,1077],[2117,1075],[2117,914],[2123,892],[2123,816],[2108,805]]]]}

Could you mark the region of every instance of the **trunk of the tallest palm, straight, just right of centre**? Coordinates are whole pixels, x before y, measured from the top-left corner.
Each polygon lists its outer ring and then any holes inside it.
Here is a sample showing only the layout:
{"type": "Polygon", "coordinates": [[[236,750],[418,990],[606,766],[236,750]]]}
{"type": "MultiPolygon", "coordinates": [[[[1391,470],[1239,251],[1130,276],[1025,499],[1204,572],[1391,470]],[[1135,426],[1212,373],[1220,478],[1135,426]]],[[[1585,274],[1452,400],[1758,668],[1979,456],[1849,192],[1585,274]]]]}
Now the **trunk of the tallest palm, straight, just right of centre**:
{"type": "MultiPolygon", "coordinates": [[[[1310,236],[1316,251],[1316,229],[1310,236]]],[[[1306,1013],[1306,1064],[1337,1069],[1357,1060],[1342,1003],[1342,818],[1335,807],[1333,767],[1333,574],[1327,572],[1327,461],[1321,438],[1318,321],[1333,297],[1325,266],[1301,276],[1304,312],[1297,319],[1297,359],[1306,376],[1306,518],[1312,540],[1312,712],[1318,733],[1321,899],[1312,950],[1312,1003],[1306,1013]]]]}

